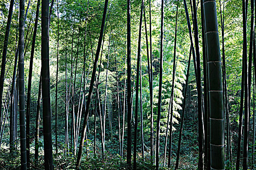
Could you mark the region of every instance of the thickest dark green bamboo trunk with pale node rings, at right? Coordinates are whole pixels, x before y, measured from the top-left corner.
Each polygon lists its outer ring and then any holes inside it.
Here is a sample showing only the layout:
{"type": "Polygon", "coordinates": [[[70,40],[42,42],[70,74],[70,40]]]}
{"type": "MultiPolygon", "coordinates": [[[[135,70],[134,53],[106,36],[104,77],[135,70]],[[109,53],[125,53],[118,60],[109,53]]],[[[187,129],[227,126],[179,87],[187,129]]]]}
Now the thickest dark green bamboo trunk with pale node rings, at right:
{"type": "Polygon", "coordinates": [[[216,1],[204,0],[203,7],[208,54],[211,169],[224,170],[224,114],[216,1]]]}

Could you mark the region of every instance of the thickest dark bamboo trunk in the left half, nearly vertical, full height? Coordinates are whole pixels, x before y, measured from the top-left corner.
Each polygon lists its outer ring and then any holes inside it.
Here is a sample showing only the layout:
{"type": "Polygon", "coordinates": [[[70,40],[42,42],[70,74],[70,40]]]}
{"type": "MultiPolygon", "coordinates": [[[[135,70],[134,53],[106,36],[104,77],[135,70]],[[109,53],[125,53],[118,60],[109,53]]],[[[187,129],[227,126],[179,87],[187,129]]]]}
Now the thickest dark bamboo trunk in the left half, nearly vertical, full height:
{"type": "Polygon", "coordinates": [[[44,169],[53,169],[52,152],[52,112],[50,101],[50,68],[49,68],[49,0],[42,0],[42,31],[41,31],[41,61],[42,61],[42,107],[43,107],[43,143],[44,169]]]}

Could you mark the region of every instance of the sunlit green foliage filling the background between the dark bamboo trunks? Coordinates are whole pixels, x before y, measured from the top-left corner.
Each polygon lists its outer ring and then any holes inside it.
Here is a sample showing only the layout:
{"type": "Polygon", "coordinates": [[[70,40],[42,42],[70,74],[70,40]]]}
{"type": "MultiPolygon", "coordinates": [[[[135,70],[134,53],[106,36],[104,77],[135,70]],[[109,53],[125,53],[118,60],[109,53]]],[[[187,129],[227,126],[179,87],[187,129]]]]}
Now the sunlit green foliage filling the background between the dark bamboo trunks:
{"type": "MultiPolygon", "coordinates": [[[[137,61],[137,46],[138,46],[138,20],[140,12],[140,0],[133,0],[131,4],[131,52],[132,52],[132,85],[136,81],[136,61],[137,61]]],[[[170,102],[171,88],[172,88],[172,69],[173,69],[173,51],[174,51],[174,32],[175,32],[175,12],[176,5],[179,4],[178,11],[178,25],[177,25],[177,67],[176,67],[176,78],[174,85],[174,112],[173,112],[173,155],[176,156],[177,149],[177,138],[178,130],[180,128],[180,113],[182,109],[182,100],[184,98],[183,87],[186,80],[185,74],[187,71],[188,55],[190,49],[190,39],[187,30],[187,21],[185,17],[185,12],[183,8],[182,1],[177,0],[165,0],[164,8],[164,58],[163,58],[163,92],[162,92],[162,110],[161,110],[161,122],[160,122],[160,153],[163,153],[164,146],[164,136],[167,126],[168,118],[168,106],[170,102]]],[[[223,2],[223,0],[222,0],[223,2]]],[[[236,153],[236,142],[237,142],[237,130],[238,130],[238,112],[239,112],[239,102],[240,102],[240,85],[241,85],[241,68],[242,68],[242,14],[241,14],[241,1],[228,0],[225,1],[225,54],[226,54],[226,71],[227,71],[227,88],[228,88],[228,98],[229,98],[229,111],[230,111],[230,121],[232,129],[232,144],[233,151],[236,153]]],[[[77,68],[77,81],[75,88],[75,115],[77,116],[78,104],[79,104],[79,91],[80,91],[80,79],[83,71],[83,64],[85,65],[85,79],[87,80],[87,85],[85,86],[84,93],[85,99],[88,95],[88,87],[91,79],[93,59],[95,57],[98,34],[100,30],[100,23],[103,12],[104,0],[89,0],[88,16],[87,13],[87,0],[59,0],[59,84],[58,84],[58,103],[55,103],[55,88],[56,88],[56,67],[57,67],[57,36],[58,36],[58,26],[57,26],[57,3],[54,1],[53,13],[50,25],[50,88],[51,88],[51,104],[52,104],[52,116],[58,114],[58,140],[61,153],[54,154],[54,166],[56,169],[74,169],[75,168],[75,157],[64,156],[64,133],[65,133],[65,95],[66,95],[66,82],[65,82],[65,62],[67,62],[67,85],[68,85],[68,95],[71,94],[71,83],[74,83],[74,73],[76,58],[78,58],[78,68],[77,68]],[[87,29],[86,38],[85,27],[87,29]],[[78,49],[78,34],[80,29],[79,38],[79,49],[78,49]],[[74,30],[74,41],[73,41],[73,51],[72,51],[72,33],[74,30]],[[85,38],[85,42],[84,42],[85,38]],[[84,51],[85,49],[85,51],[84,51]],[[78,50],[78,53],[77,53],[78,50]],[[85,52],[86,60],[83,61],[85,52]],[[71,60],[71,54],[73,53],[73,60],[71,60]],[[67,60],[65,58],[67,57],[67,60]],[[73,64],[73,69],[71,69],[71,63],[73,64]],[[73,71],[73,80],[71,80],[71,72],[73,71]],[[73,82],[72,82],[73,81],[73,82]],[[55,105],[57,104],[58,113],[55,112],[55,105]]],[[[5,24],[8,16],[8,6],[9,0],[0,0],[0,54],[2,53],[2,44],[4,39],[5,24]]],[[[126,58],[126,1],[125,0],[109,0],[109,8],[107,12],[107,27],[104,39],[104,45],[102,49],[102,63],[100,65],[100,76],[99,76],[99,97],[101,111],[103,110],[104,95],[105,95],[105,78],[106,78],[106,66],[107,66],[107,55],[108,55],[108,41],[110,41],[110,53],[109,53],[109,68],[108,68],[108,82],[107,82],[107,102],[109,107],[106,111],[106,160],[102,161],[99,157],[93,156],[93,141],[94,141],[94,104],[96,100],[96,88],[93,91],[93,97],[91,104],[91,111],[89,114],[88,123],[88,149],[89,158],[85,158],[83,155],[83,160],[81,163],[81,169],[90,170],[114,170],[114,169],[125,169],[127,165],[125,164],[125,159],[120,160],[119,158],[119,144],[118,144],[118,105],[117,105],[117,76],[116,76],[116,62],[115,56],[117,57],[118,66],[118,79],[119,79],[119,97],[122,101],[121,109],[119,110],[121,120],[123,114],[123,96],[124,94],[124,82],[127,78],[125,74],[125,58],[126,58]],[[112,118],[112,133],[113,139],[111,138],[111,129],[109,126],[108,114],[111,114],[112,118]]],[[[25,5],[26,8],[27,4],[25,5]]],[[[220,18],[219,13],[219,1],[217,1],[217,15],[220,18]]],[[[28,11],[28,16],[25,24],[25,37],[26,40],[26,54],[24,56],[24,76],[25,76],[25,89],[27,89],[28,80],[28,69],[30,62],[30,51],[31,51],[31,33],[33,33],[34,20],[35,20],[35,8],[36,0],[31,0],[31,6],[28,11]]],[[[188,10],[191,17],[191,9],[188,2],[188,10]]],[[[159,80],[159,43],[160,43],[160,3],[159,0],[152,0],[152,53],[153,53],[153,113],[154,120],[157,119],[157,109],[158,109],[158,80],[159,80]]],[[[7,66],[6,66],[6,79],[4,82],[4,96],[7,95],[8,85],[10,85],[13,73],[14,56],[17,47],[18,39],[18,11],[19,3],[15,2],[15,8],[13,11],[13,19],[9,36],[9,45],[7,51],[7,66]]],[[[145,12],[146,12],[146,24],[149,36],[149,1],[145,1],[145,12]]],[[[201,18],[200,18],[200,5],[197,7],[197,18],[198,18],[198,30],[199,30],[199,45],[200,52],[202,53],[201,47],[201,18]]],[[[40,12],[39,12],[40,13],[40,12]]],[[[39,14],[40,16],[41,14],[39,14]]],[[[248,16],[250,15],[250,9],[248,9],[248,16]]],[[[36,38],[35,46],[35,56],[34,56],[34,67],[33,67],[33,77],[32,77],[32,89],[31,89],[31,138],[34,137],[35,122],[36,122],[36,106],[38,97],[38,87],[39,87],[39,75],[41,68],[41,18],[39,17],[38,33],[36,38]]],[[[220,20],[220,19],[218,19],[220,20]]],[[[248,22],[248,30],[250,28],[250,23],[248,22]]],[[[193,26],[192,26],[193,29],[193,26]]],[[[220,27],[219,27],[219,34],[220,27]]],[[[248,31],[249,35],[249,31],[248,31]]],[[[220,43],[221,43],[220,39],[220,43]]],[[[249,39],[248,39],[249,41],[249,39]]],[[[249,42],[248,42],[249,43],[249,42]]],[[[102,43],[103,44],[103,43],[102,43]]],[[[149,164],[149,146],[150,146],[150,96],[149,96],[149,82],[148,82],[148,65],[147,65],[147,52],[146,52],[146,39],[145,39],[145,26],[144,22],[142,24],[142,39],[141,39],[141,59],[142,59],[142,105],[143,105],[143,132],[144,132],[144,148],[145,148],[145,159],[143,162],[140,158],[138,160],[138,169],[141,170],[151,170],[155,169],[154,166],[149,164]]],[[[202,60],[202,58],[201,58],[202,60]]],[[[98,62],[99,65],[99,62],[98,62]]],[[[202,62],[201,62],[202,65],[202,62]]],[[[98,70],[97,70],[98,76],[98,70]]],[[[203,76],[202,76],[203,80],[203,76]]],[[[136,82],[135,82],[136,83],[136,82]]],[[[203,83],[202,83],[203,86],[203,83]]],[[[82,82],[83,87],[83,82],[82,82]]],[[[96,87],[96,86],[95,86],[96,87]]],[[[253,90],[253,89],[252,89],[253,90]]],[[[26,91],[26,90],[25,90],[26,91]]],[[[134,90],[135,91],[135,90],[134,90]]],[[[133,102],[135,107],[135,92],[133,93],[133,102]]],[[[252,93],[253,95],[253,93],[252,93]]],[[[71,105],[71,100],[69,101],[71,105]]],[[[85,100],[86,102],[86,100],[85,100]]],[[[82,120],[84,118],[85,106],[83,105],[82,110],[82,120]]],[[[253,108],[253,107],[251,107],[253,108]]],[[[97,110],[99,112],[99,110],[97,110]]],[[[251,111],[252,113],[252,111],[251,111]]],[[[124,150],[126,147],[126,109],[125,109],[125,134],[124,134],[124,150]]],[[[196,169],[197,167],[197,90],[196,90],[196,79],[195,70],[193,65],[193,60],[191,60],[190,68],[190,78],[189,78],[189,88],[187,94],[187,105],[185,112],[185,125],[182,136],[181,144],[181,167],[183,169],[196,169]]],[[[8,118],[8,117],[7,117],[8,118]]],[[[42,116],[41,116],[42,118],[42,116]]],[[[19,119],[19,114],[18,114],[19,119]]],[[[7,119],[8,120],[8,119],[7,119]]],[[[156,121],[154,122],[156,127],[156,121]]],[[[52,120],[52,133],[55,134],[55,119],[52,120]]],[[[68,131],[71,130],[71,107],[69,107],[69,117],[68,124],[70,127],[68,131]]],[[[140,128],[141,122],[138,124],[138,157],[141,157],[141,138],[140,138],[140,128]]],[[[8,123],[5,126],[2,137],[2,146],[4,149],[0,150],[0,169],[19,169],[20,166],[20,155],[19,147],[18,151],[14,155],[10,155],[8,148],[8,123]],[[6,128],[7,127],[7,128],[6,128]],[[8,154],[6,154],[8,153],[8,154]]],[[[121,121],[122,126],[122,121],[121,121]]],[[[42,121],[40,121],[40,129],[42,129],[42,121]]],[[[18,132],[20,127],[18,126],[18,132]]],[[[80,128],[81,130],[81,128],[80,128]]],[[[156,131],[156,129],[154,129],[156,131]]],[[[100,147],[100,123],[97,116],[97,155],[101,153],[100,147]]],[[[39,165],[38,169],[43,169],[43,139],[42,133],[40,132],[40,146],[39,146],[39,165]]],[[[55,135],[53,135],[55,142],[55,135]]],[[[69,136],[70,140],[70,136],[69,136]]],[[[17,144],[19,146],[19,133],[17,144]]],[[[33,145],[31,145],[33,148],[33,145]]],[[[124,152],[125,153],[125,152],[124,152]]],[[[235,154],[234,154],[235,155],[235,154]]],[[[163,158],[160,155],[160,159],[163,158]]],[[[250,155],[251,156],[251,155],[250,155]]],[[[33,153],[32,153],[33,157],[33,153]]],[[[175,162],[173,159],[172,164],[175,162]]],[[[226,166],[230,164],[226,161],[226,166]]],[[[34,163],[33,163],[34,166],[34,163]]],[[[36,167],[36,166],[35,166],[36,167]]],[[[172,167],[173,168],[173,167],[172,167]]],[[[165,170],[165,168],[162,168],[165,170]]]]}

